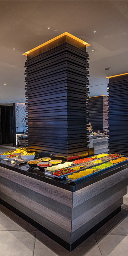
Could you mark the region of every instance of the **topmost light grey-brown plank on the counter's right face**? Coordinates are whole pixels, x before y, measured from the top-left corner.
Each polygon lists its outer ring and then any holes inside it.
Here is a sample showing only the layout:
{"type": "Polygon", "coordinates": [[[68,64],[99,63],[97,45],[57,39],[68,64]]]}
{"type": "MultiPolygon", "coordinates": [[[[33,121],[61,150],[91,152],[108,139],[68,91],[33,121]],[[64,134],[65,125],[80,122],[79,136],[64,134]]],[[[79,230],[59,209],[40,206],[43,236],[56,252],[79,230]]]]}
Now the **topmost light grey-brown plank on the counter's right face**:
{"type": "Polygon", "coordinates": [[[117,184],[118,182],[128,178],[128,168],[117,172],[103,180],[99,180],[85,188],[73,192],[73,207],[83,203],[91,197],[99,194],[101,191],[106,190],[117,184]]]}

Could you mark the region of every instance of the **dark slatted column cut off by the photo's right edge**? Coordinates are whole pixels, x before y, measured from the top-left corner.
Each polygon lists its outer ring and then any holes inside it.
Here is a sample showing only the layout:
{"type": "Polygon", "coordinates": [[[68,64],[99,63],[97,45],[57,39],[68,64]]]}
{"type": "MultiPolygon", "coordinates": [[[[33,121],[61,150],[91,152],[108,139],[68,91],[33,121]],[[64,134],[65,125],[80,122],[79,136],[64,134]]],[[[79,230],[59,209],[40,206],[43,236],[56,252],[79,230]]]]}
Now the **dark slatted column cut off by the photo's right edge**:
{"type": "Polygon", "coordinates": [[[109,78],[109,152],[128,156],[128,75],[109,78]]]}

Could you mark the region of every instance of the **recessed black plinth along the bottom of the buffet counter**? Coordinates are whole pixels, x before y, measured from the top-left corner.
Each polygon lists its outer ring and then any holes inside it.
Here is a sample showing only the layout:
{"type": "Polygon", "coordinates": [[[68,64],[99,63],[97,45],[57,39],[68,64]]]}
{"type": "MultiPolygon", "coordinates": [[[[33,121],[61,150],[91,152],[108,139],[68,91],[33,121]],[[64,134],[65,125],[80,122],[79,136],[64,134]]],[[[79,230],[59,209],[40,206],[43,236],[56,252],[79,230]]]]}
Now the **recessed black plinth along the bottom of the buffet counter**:
{"type": "Polygon", "coordinates": [[[121,206],[118,207],[114,212],[110,213],[106,218],[101,220],[97,225],[95,225],[93,228],[91,228],[88,232],[86,232],[83,236],[81,236],[79,239],[77,239],[73,244],[69,244],[66,241],[64,241],[59,236],[55,235],[51,231],[49,231],[47,228],[44,228],[42,225],[38,224],[35,220],[32,220],[24,213],[20,212],[10,204],[6,203],[4,200],[0,199],[0,204],[4,205],[6,208],[8,208],[10,211],[17,214],[20,218],[23,220],[26,220],[28,223],[30,223],[32,226],[43,232],[46,236],[49,236],[52,238],[55,242],[57,241],[58,244],[66,248],[68,251],[74,250],[79,244],[81,244],[85,239],[87,239],[89,236],[91,236],[96,230],[101,228],[108,220],[112,219],[117,213],[121,211],[121,206]]]}

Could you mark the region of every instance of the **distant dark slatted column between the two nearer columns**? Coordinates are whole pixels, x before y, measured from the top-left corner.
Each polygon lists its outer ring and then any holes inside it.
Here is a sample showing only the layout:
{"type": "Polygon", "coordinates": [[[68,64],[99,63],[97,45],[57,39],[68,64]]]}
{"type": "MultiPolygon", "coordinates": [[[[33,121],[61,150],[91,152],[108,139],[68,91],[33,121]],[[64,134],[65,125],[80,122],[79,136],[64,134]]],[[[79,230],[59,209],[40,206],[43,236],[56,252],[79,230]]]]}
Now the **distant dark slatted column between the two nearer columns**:
{"type": "Polygon", "coordinates": [[[108,97],[89,97],[89,117],[93,132],[103,132],[108,129],[108,97]]]}

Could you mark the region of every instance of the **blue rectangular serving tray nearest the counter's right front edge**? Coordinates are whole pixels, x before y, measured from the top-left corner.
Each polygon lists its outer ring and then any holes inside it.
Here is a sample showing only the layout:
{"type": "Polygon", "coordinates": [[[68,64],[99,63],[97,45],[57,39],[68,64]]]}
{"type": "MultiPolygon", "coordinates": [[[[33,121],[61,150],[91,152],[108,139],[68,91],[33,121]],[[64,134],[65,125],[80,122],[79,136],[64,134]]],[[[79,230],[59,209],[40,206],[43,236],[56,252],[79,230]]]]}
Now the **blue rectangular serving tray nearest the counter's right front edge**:
{"type": "MultiPolygon", "coordinates": [[[[117,158],[119,158],[119,157],[121,157],[121,156],[118,156],[117,158]]],[[[126,156],[125,156],[126,157],[126,156]]],[[[116,157],[115,157],[115,159],[117,159],[116,157]]],[[[110,160],[109,160],[110,161],[110,160]]],[[[108,162],[109,162],[108,161],[108,162]]],[[[120,163],[125,163],[126,161],[128,161],[128,158],[125,160],[125,161],[123,161],[123,162],[120,162],[120,163]]],[[[120,163],[118,163],[118,164],[120,164],[120,163]]],[[[100,164],[98,164],[98,165],[101,165],[101,164],[103,164],[103,163],[100,163],[100,164]]],[[[107,168],[104,168],[104,169],[102,169],[102,170],[99,170],[99,171],[95,171],[95,172],[92,172],[91,174],[88,174],[88,175],[86,175],[86,176],[84,176],[84,177],[81,177],[81,178],[78,178],[78,179],[70,179],[70,178],[68,178],[68,177],[66,177],[66,179],[67,180],[71,180],[71,181],[77,181],[77,180],[82,180],[82,179],[85,179],[85,178],[87,178],[87,177],[89,177],[89,176],[92,176],[92,175],[94,175],[95,173],[98,173],[98,172],[102,172],[102,171],[106,171],[106,170],[109,170],[110,168],[112,168],[112,167],[114,167],[115,165],[118,165],[118,164],[113,164],[113,165],[111,165],[111,166],[109,166],[109,167],[107,167],[107,168]]],[[[95,166],[96,166],[96,164],[95,164],[95,166]]],[[[82,171],[84,171],[84,170],[86,170],[86,169],[92,169],[92,166],[90,166],[90,168],[84,168],[82,171]]],[[[77,171],[77,172],[80,172],[80,171],[77,171]]],[[[68,175],[70,175],[70,174],[68,174],[68,175]]]]}

